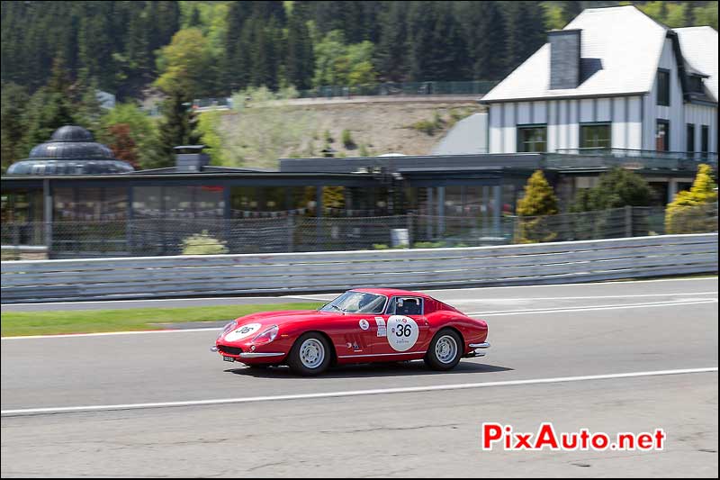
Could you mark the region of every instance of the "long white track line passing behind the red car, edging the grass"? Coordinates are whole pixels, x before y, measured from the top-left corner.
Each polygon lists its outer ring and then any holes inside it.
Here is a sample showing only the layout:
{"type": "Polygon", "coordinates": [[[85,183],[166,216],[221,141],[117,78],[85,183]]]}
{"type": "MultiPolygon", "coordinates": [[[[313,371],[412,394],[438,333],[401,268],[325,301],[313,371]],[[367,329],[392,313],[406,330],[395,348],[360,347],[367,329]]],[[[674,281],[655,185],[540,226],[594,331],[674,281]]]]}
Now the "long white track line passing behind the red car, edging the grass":
{"type": "MultiPolygon", "coordinates": [[[[659,306],[674,305],[694,305],[698,303],[717,303],[716,298],[707,300],[679,300],[677,302],[657,302],[657,303],[630,303],[630,304],[613,304],[613,305],[587,305],[581,307],[554,308],[554,309],[538,309],[538,310],[509,310],[499,312],[472,312],[466,313],[468,316],[499,316],[499,315],[522,315],[526,313],[554,313],[554,312],[589,312],[592,310],[622,310],[628,308],[651,308],[659,306]]],[[[150,330],[150,331],[108,331],[101,333],[63,333],[58,335],[24,335],[19,337],[3,337],[0,340],[33,340],[33,339],[67,339],[72,337],[103,337],[107,335],[147,335],[149,333],[183,333],[187,331],[220,331],[219,327],[206,327],[199,329],[178,329],[178,330],[150,330]]]]}

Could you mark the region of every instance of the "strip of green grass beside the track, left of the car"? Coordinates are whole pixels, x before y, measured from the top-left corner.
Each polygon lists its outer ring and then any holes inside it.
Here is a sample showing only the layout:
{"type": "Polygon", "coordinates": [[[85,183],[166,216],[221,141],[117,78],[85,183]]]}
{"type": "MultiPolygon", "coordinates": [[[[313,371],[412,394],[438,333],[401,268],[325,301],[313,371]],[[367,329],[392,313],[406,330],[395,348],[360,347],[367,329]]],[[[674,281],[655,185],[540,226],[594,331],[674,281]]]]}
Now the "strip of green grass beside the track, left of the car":
{"type": "Polygon", "coordinates": [[[56,312],[4,312],[3,337],[142,331],[161,329],[160,323],[230,321],[255,312],[312,310],[322,303],[270,303],[187,308],[130,308],[124,310],[74,310],[56,312]]]}

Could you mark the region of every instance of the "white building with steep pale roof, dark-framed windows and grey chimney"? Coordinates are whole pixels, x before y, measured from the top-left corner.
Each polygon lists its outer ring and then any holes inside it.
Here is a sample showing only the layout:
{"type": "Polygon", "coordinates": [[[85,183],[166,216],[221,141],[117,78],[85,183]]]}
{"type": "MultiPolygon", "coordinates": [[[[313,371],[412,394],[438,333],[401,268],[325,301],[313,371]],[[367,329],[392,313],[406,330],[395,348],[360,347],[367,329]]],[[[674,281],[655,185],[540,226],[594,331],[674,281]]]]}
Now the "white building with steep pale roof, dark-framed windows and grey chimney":
{"type": "Polygon", "coordinates": [[[549,32],[548,43],[482,98],[486,151],[703,158],[717,152],[717,99],[714,29],[670,29],[634,6],[592,8],[549,32]]]}

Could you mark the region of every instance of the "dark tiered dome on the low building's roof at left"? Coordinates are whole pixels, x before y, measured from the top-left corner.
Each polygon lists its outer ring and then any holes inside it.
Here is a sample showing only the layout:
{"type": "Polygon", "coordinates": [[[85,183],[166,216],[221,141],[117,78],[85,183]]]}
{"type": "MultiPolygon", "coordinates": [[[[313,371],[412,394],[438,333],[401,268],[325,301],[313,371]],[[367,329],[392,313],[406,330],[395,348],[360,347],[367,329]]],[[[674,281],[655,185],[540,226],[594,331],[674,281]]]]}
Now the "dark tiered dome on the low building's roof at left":
{"type": "Polygon", "coordinates": [[[65,125],[50,140],[31,149],[28,158],[11,165],[7,175],[111,175],[131,171],[129,163],[113,158],[111,149],[95,142],[90,131],[65,125]]]}

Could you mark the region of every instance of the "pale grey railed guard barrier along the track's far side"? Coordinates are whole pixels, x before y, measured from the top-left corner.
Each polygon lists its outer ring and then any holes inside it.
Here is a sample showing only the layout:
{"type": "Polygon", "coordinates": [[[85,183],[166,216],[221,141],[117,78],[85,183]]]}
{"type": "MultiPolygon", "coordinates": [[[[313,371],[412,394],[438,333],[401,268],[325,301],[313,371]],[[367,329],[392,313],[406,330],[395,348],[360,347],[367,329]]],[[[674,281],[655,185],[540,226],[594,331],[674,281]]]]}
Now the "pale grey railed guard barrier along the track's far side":
{"type": "Polygon", "coordinates": [[[717,233],[466,249],[31,260],[2,262],[2,301],[560,284],[716,271],[717,233]]]}

